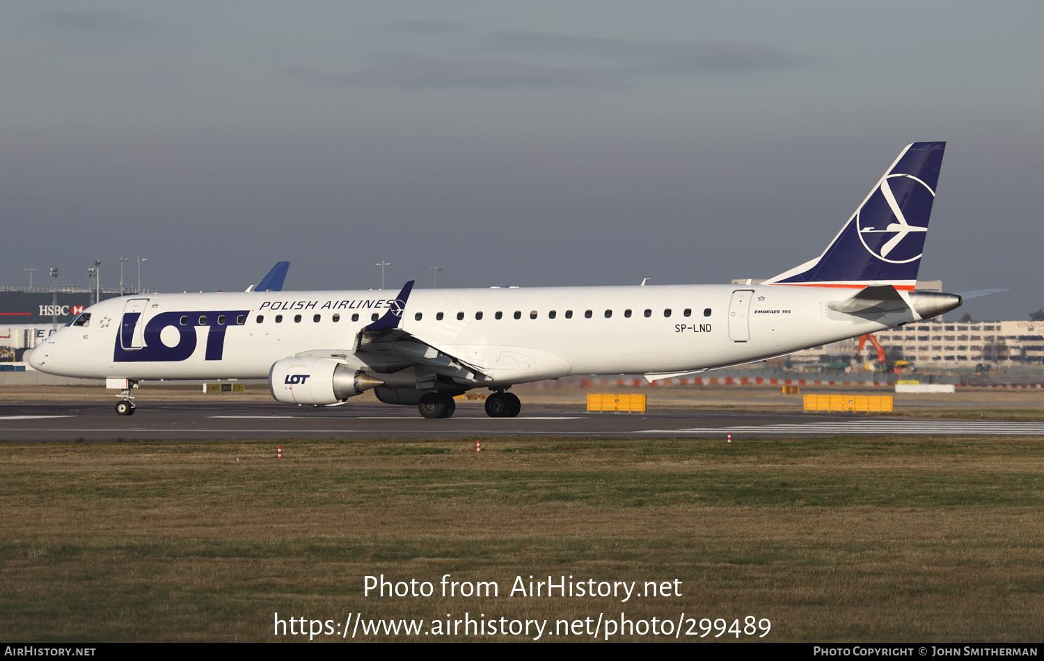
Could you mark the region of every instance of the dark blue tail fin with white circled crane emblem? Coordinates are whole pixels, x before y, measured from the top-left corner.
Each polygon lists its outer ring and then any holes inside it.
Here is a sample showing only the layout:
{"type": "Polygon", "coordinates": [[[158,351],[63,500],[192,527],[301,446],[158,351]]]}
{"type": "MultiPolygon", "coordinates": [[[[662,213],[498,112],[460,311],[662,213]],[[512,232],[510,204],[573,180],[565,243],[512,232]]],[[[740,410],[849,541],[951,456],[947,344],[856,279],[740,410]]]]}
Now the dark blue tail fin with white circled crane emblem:
{"type": "Polygon", "coordinates": [[[765,284],[914,289],[945,149],[907,146],[823,254],[765,284]]]}

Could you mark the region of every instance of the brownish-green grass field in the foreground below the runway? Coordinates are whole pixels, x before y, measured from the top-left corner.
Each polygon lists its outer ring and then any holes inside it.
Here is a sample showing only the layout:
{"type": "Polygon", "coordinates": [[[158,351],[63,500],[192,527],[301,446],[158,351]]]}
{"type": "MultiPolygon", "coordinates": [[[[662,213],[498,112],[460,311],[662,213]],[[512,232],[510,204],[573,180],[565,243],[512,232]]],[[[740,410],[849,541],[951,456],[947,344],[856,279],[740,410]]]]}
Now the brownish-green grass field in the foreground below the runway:
{"type": "Polygon", "coordinates": [[[300,639],[274,636],[275,612],[754,615],[774,641],[1044,634],[1040,439],[482,444],[295,440],[282,460],[267,441],[4,444],[0,638],[300,639]],[[435,595],[364,596],[381,573],[435,595]],[[500,595],[444,598],[446,573],[500,595]],[[529,574],[680,580],[682,595],[508,595],[529,574]]]}

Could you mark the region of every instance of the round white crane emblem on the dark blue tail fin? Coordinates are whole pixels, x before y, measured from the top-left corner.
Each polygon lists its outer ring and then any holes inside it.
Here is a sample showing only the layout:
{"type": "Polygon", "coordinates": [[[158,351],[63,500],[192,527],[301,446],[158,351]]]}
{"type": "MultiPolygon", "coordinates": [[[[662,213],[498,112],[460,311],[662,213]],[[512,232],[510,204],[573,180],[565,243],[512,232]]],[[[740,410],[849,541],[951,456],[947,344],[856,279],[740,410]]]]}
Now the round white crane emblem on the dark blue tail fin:
{"type": "Polygon", "coordinates": [[[871,254],[891,264],[919,259],[928,227],[910,224],[906,216],[927,221],[934,197],[928,185],[915,176],[888,175],[857,212],[859,241],[871,254]]]}

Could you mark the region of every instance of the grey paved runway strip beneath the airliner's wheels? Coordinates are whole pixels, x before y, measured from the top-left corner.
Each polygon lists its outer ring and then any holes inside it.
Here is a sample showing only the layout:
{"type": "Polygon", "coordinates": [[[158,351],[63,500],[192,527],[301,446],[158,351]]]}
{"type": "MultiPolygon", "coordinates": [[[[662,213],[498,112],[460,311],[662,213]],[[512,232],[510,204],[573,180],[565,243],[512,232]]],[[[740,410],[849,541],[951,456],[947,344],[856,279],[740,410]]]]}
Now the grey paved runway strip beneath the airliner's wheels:
{"type": "Polygon", "coordinates": [[[263,402],[146,402],[120,417],[109,402],[0,405],[0,440],[114,441],[280,438],[442,438],[633,436],[652,438],[829,437],[880,435],[1042,436],[1044,422],[868,418],[794,412],[658,411],[589,414],[578,407],[527,406],[517,418],[487,417],[480,403],[427,420],[414,407],[304,408],[263,402]]]}

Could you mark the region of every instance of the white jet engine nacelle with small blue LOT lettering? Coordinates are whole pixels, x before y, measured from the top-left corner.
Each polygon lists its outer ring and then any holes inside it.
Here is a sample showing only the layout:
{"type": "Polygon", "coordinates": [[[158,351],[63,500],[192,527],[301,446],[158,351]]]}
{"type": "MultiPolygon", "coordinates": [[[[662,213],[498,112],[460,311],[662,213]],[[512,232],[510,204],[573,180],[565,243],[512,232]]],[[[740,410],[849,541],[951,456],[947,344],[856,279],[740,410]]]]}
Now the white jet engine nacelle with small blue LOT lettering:
{"type": "Polygon", "coordinates": [[[268,390],[283,403],[339,403],[383,383],[329,358],[284,358],[268,370],[268,390]]]}

